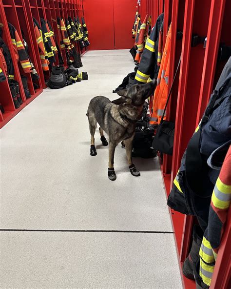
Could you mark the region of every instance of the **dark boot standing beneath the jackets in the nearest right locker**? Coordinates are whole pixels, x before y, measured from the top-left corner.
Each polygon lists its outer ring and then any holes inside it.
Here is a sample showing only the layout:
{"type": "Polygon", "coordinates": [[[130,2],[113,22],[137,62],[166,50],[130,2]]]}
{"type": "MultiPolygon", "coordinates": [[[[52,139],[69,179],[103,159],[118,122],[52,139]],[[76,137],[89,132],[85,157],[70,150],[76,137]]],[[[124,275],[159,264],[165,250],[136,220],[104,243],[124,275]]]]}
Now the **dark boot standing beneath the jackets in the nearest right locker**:
{"type": "Polygon", "coordinates": [[[185,259],[183,264],[183,274],[186,278],[194,280],[193,263],[199,258],[200,246],[203,239],[203,231],[198,225],[193,227],[193,243],[189,256],[185,259]]]}

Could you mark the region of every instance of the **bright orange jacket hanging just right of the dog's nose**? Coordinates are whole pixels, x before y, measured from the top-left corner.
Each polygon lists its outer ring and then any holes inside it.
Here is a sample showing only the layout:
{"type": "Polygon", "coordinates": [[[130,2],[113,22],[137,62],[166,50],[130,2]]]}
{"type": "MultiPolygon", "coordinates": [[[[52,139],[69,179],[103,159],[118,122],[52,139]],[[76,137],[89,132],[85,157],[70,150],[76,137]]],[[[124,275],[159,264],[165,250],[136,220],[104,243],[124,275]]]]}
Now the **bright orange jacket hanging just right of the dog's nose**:
{"type": "MultiPolygon", "coordinates": [[[[154,92],[153,112],[150,124],[160,124],[168,98],[171,38],[172,38],[172,25],[170,25],[169,27],[164,47],[164,54],[163,54],[164,56],[157,77],[157,86],[154,92]]],[[[164,116],[164,120],[165,119],[166,116],[164,116]]]]}

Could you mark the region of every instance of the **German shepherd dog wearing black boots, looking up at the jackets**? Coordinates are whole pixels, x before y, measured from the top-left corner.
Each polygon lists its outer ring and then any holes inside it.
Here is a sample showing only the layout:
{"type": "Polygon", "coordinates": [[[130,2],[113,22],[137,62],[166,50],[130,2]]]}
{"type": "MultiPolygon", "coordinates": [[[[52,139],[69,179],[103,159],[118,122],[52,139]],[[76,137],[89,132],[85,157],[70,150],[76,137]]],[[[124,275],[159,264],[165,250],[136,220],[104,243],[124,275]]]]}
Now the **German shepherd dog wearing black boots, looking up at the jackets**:
{"type": "Polygon", "coordinates": [[[156,81],[145,84],[135,84],[128,90],[117,92],[121,96],[111,102],[104,96],[94,97],[88,107],[87,117],[91,133],[91,156],[96,156],[95,132],[97,123],[100,125],[99,133],[102,145],[108,145],[103,132],[109,136],[109,165],[108,177],[111,181],[116,180],[114,170],[114,154],[116,145],[121,141],[125,144],[128,165],[133,176],[138,177],[140,173],[132,162],[133,138],[135,135],[135,123],[140,119],[145,100],[153,95],[156,81]]]}

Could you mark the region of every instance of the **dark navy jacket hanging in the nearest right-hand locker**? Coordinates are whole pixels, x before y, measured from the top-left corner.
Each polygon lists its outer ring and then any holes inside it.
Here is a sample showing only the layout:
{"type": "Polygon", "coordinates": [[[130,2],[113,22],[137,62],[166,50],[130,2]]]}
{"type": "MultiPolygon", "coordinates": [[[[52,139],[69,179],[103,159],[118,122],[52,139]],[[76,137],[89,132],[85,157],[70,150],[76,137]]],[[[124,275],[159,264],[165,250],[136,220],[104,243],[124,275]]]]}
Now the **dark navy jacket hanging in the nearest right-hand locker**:
{"type": "Polygon", "coordinates": [[[196,216],[204,231],[208,226],[212,191],[220,172],[219,165],[209,165],[209,162],[215,159],[218,164],[222,163],[230,143],[231,58],[183,155],[168,197],[168,206],[183,214],[196,216]],[[223,155],[220,153],[213,158],[216,149],[221,147],[223,155]]]}

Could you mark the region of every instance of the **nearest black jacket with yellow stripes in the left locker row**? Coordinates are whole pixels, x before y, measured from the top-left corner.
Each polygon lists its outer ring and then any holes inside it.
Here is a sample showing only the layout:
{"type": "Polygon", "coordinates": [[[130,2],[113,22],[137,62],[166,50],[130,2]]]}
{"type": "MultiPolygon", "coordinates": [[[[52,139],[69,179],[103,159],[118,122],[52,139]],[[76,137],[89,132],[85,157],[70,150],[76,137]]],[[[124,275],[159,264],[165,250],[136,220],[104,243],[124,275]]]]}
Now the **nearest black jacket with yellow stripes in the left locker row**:
{"type": "Polygon", "coordinates": [[[45,45],[45,49],[48,55],[48,60],[50,63],[55,63],[56,59],[55,59],[55,48],[53,46],[53,43],[51,41],[51,34],[50,34],[50,28],[47,24],[47,22],[40,18],[40,22],[41,22],[41,30],[42,30],[42,37],[43,37],[43,41],[44,41],[44,45],[45,45]]]}

